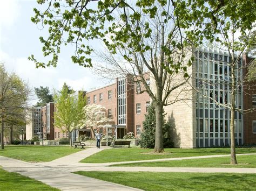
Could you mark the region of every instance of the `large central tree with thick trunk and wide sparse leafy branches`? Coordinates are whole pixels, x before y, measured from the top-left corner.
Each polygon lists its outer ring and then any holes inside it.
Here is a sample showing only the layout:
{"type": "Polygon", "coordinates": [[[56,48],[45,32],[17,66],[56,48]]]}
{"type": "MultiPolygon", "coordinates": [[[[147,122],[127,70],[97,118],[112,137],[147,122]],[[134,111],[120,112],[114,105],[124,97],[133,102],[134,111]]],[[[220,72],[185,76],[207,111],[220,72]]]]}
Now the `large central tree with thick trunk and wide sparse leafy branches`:
{"type": "Polygon", "coordinates": [[[35,61],[37,67],[56,66],[60,45],[75,44],[72,61],[85,67],[92,66],[87,55],[93,49],[86,45],[86,40],[102,39],[112,54],[119,53],[122,61],[131,65],[129,73],[146,87],[143,91],[155,103],[157,128],[154,151],[163,152],[161,113],[164,105],[170,104],[168,98],[172,91],[184,84],[184,79],[180,83],[171,81],[179,72],[187,76],[183,60],[184,47],[188,43],[176,25],[179,18],[173,15],[174,6],[171,1],[132,3],[120,0],[100,1],[97,9],[90,9],[89,2],[69,1],[68,9],[64,10],[59,2],[50,1],[46,11],[34,9],[36,15],[31,18],[32,22],[49,26],[49,37],[41,37],[40,40],[44,44],[44,55],[52,55],[52,60],[45,64],[33,55],[29,59],[35,61]],[[150,72],[156,94],[147,86],[144,72],[150,72]]]}

